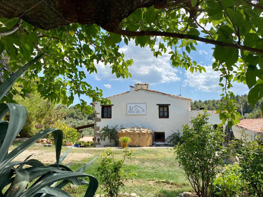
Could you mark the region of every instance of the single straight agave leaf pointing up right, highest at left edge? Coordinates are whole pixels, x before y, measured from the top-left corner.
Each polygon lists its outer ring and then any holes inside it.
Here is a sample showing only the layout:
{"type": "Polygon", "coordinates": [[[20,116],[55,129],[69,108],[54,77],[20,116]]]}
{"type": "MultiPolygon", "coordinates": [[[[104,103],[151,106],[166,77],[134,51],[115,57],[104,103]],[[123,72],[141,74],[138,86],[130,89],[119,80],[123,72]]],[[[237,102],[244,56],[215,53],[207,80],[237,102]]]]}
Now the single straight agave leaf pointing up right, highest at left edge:
{"type": "Polygon", "coordinates": [[[25,64],[23,67],[18,69],[16,73],[14,73],[11,77],[9,77],[3,84],[0,86],[0,100],[6,95],[6,93],[9,91],[9,89],[12,87],[14,82],[23,74],[24,71],[26,71],[29,66],[36,63],[37,60],[39,60],[44,53],[36,56],[33,60],[29,61],[27,64],[25,64]]]}

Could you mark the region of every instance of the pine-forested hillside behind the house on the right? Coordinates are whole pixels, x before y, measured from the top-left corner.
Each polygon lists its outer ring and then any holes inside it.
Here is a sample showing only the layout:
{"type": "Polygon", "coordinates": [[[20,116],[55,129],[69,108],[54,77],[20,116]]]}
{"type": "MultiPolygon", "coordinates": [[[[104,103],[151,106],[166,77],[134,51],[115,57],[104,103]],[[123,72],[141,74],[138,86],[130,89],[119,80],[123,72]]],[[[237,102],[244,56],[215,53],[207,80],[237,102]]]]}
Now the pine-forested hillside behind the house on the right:
{"type": "MultiPolygon", "coordinates": [[[[243,117],[245,119],[248,118],[259,118],[260,117],[260,110],[261,106],[263,105],[263,98],[256,102],[253,109],[250,107],[250,103],[247,101],[247,95],[236,95],[234,97],[236,102],[233,105],[237,108],[237,111],[241,114],[241,105],[243,108],[243,117]]],[[[218,100],[205,100],[205,101],[194,101],[191,102],[191,110],[199,109],[200,107],[205,108],[206,110],[217,110],[219,105],[224,102],[224,97],[218,100]]]]}

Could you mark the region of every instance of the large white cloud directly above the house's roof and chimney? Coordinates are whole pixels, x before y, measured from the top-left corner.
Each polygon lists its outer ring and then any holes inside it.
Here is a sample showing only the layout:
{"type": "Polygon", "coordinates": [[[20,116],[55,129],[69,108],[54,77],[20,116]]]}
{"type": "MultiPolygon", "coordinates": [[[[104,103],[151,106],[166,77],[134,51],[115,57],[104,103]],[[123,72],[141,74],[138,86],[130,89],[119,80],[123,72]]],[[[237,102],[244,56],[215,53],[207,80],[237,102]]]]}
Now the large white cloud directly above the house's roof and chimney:
{"type": "MultiPolygon", "coordinates": [[[[158,50],[158,45],[155,46],[158,50]]],[[[170,54],[171,49],[167,49],[166,53],[162,53],[163,56],[155,58],[153,52],[150,51],[149,47],[140,48],[135,46],[134,41],[129,42],[129,46],[125,45],[120,48],[119,52],[125,54],[125,59],[133,59],[134,64],[129,68],[131,73],[131,80],[134,82],[145,82],[151,84],[166,83],[172,81],[179,81],[180,78],[177,76],[177,69],[170,65],[170,54]]],[[[99,62],[95,64],[97,68],[97,74],[93,73],[92,76],[95,80],[118,80],[115,74],[112,74],[112,70],[109,65],[104,65],[99,62]]],[[[122,80],[119,78],[119,80],[122,80]]]]}

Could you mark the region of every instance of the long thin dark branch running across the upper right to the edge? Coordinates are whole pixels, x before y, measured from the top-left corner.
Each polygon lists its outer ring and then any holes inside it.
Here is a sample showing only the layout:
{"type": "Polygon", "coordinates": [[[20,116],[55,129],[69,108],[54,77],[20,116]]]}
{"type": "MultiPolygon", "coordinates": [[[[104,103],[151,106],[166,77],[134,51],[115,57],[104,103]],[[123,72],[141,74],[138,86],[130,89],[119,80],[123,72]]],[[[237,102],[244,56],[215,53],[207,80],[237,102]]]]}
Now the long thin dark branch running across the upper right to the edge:
{"type": "MultiPolygon", "coordinates": [[[[107,29],[106,29],[107,30],[107,29]]],[[[114,29],[112,31],[113,33],[116,34],[121,34],[121,35],[126,35],[129,37],[134,37],[134,36],[165,36],[165,37],[172,37],[172,38],[180,38],[180,39],[190,39],[190,40],[196,40],[208,44],[213,44],[213,45],[218,45],[218,46],[227,46],[231,48],[236,48],[236,49],[241,49],[241,50],[246,50],[246,51],[251,51],[251,52],[256,52],[256,53],[263,53],[263,50],[248,47],[248,46],[240,46],[234,43],[226,43],[226,42],[221,42],[218,40],[211,40],[195,35],[189,35],[189,34],[181,34],[181,33],[173,33],[173,32],[159,32],[159,31],[128,31],[124,29],[114,29]]]]}

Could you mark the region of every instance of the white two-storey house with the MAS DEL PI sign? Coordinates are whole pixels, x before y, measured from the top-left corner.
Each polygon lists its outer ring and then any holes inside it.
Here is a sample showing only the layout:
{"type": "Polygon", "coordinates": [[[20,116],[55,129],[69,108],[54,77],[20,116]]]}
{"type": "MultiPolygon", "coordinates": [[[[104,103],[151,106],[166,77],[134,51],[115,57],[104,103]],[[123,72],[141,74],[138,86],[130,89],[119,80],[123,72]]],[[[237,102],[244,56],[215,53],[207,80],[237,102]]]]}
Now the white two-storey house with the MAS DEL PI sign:
{"type": "MultiPolygon", "coordinates": [[[[189,123],[191,117],[197,116],[198,112],[203,112],[191,111],[192,99],[150,90],[149,84],[135,84],[135,87],[130,86],[130,91],[107,99],[111,105],[92,103],[95,106],[94,147],[114,145],[107,140],[97,142],[100,129],[107,125],[148,128],[153,131],[156,144],[165,144],[165,139],[173,131],[181,132],[183,124],[189,123]]],[[[208,113],[211,114],[209,123],[221,123],[218,115],[208,113]]]]}

